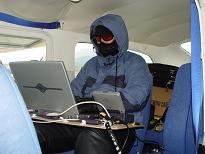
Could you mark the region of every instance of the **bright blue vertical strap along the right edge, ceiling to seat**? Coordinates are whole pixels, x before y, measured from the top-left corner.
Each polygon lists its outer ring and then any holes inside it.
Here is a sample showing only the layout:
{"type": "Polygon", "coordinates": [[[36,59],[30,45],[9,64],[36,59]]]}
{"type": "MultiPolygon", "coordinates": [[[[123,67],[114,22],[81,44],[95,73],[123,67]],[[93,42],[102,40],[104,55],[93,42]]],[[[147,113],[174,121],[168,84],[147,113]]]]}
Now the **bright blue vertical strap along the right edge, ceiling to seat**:
{"type": "Polygon", "coordinates": [[[199,120],[203,101],[203,74],[199,14],[194,0],[191,0],[191,52],[192,111],[197,143],[196,145],[198,146],[198,139],[200,135],[199,120]]]}

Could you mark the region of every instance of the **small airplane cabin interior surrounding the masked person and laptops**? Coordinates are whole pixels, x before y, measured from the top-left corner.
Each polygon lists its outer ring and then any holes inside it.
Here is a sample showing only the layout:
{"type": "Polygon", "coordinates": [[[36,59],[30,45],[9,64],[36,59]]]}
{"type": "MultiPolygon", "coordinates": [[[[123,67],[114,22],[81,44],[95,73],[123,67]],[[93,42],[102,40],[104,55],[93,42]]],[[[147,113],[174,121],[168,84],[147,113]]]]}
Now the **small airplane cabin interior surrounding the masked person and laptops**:
{"type": "MultiPolygon", "coordinates": [[[[10,132],[0,128],[0,153],[41,153],[9,63],[63,61],[72,81],[96,56],[90,25],[106,14],[123,18],[128,50],[144,58],[153,76],[142,154],[204,153],[204,6],[203,0],[0,1],[0,121],[10,132]],[[8,116],[12,124],[5,112],[14,113],[8,116]],[[8,135],[15,134],[9,143],[8,135]]],[[[133,146],[129,154],[136,153],[133,146]]]]}

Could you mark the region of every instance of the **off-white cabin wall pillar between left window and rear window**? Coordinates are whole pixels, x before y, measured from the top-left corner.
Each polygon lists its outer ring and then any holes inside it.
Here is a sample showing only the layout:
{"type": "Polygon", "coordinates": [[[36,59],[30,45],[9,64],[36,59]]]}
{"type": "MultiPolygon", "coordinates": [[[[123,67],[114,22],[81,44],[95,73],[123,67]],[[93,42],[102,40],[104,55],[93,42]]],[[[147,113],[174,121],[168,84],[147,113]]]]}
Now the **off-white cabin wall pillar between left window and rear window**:
{"type": "Polygon", "coordinates": [[[45,31],[49,33],[54,49],[53,54],[47,56],[47,60],[64,61],[66,69],[69,72],[69,77],[70,79],[73,79],[75,75],[75,46],[78,42],[88,42],[88,35],[63,30],[45,31]]]}

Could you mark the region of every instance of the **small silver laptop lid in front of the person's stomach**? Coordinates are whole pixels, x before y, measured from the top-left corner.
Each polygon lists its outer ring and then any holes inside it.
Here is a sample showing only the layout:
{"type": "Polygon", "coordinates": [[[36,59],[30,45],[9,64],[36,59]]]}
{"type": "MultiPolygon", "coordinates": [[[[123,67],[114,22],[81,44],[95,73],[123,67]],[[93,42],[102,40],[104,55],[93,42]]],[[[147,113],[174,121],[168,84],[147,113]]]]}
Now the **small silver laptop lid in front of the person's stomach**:
{"type": "Polygon", "coordinates": [[[107,110],[125,113],[125,107],[119,92],[94,91],[94,100],[105,106],[107,110]]]}

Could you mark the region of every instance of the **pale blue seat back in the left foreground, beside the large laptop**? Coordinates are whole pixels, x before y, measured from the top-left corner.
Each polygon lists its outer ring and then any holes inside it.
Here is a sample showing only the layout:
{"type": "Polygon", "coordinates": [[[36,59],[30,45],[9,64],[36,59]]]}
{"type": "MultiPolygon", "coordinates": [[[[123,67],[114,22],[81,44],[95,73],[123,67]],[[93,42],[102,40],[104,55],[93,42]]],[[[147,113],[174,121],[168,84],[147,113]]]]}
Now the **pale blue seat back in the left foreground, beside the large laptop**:
{"type": "Polygon", "coordinates": [[[24,100],[3,65],[0,65],[0,87],[0,153],[41,154],[24,100]]]}

